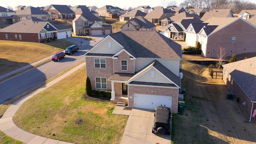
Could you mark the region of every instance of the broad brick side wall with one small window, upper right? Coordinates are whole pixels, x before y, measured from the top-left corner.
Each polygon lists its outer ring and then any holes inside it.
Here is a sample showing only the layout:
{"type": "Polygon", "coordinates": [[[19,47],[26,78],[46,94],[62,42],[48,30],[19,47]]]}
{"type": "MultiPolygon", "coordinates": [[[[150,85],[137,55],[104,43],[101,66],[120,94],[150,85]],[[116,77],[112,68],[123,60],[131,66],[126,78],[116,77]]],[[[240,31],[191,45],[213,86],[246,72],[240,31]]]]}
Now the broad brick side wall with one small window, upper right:
{"type": "Polygon", "coordinates": [[[255,37],[256,28],[243,20],[237,20],[208,37],[206,58],[216,58],[219,47],[225,48],[226,56],[256,52],[255,37]],[[232,37],[236,37],[235,43],[232,43],[232,37]],[[215,51],[213,54],[212,50],[215,51]]]}

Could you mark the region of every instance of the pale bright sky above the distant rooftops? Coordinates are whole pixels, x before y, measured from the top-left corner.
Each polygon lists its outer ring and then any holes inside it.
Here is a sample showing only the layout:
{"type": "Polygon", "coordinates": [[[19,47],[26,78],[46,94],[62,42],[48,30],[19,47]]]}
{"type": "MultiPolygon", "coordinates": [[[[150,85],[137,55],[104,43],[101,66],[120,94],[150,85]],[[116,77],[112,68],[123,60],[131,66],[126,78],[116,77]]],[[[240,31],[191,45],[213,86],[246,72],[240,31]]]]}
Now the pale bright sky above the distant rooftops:
{"type": "MultiPolygon", "coordinates": [[[[61,4],[61,5],[86,5],[86,6],[97,6],[98,8],[111,5],[118,6],[119,8],[128,9],[129,7],[145,6],[167,6],[168,2],[172,0],[1,0],[0,6],[7,8],[11,6],[49,6],[50,4],[61,4]],[[165,2],[165,5],[164,5],[165,2]]],[[[184,0],[176,0],[177,6],[184,0]]],[[[246,0],[245,0],[246,1],[246,0]]],[[[248,0],[249,2],[256,3],[256,0],[248,0]]]]}

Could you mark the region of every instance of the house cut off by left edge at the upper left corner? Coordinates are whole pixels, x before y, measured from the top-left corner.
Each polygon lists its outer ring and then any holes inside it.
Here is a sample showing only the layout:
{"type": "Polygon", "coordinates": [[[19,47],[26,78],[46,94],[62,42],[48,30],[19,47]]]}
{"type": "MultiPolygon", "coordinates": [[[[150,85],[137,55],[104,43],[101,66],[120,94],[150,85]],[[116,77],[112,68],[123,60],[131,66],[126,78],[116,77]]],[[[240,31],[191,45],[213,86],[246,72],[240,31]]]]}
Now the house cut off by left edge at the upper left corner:
{"type": "Polygon", "coordinates": [[[0,27],[5,27],[20,21],[20,17],[16,16],[16,12],[0,6],[0,27]]]}

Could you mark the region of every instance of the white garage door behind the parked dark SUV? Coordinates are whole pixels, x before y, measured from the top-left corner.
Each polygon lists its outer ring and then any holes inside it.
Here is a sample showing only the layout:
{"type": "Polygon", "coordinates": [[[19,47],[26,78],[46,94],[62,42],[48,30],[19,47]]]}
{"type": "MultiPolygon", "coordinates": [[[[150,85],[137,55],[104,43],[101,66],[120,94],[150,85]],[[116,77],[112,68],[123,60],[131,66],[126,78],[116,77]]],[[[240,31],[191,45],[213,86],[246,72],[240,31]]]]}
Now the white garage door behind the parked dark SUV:
{"type": "Polygon", "coordinates": [[[172,108],[172,96],[134,94],[134,108],[155,109],[156,106],[172,108]]]}

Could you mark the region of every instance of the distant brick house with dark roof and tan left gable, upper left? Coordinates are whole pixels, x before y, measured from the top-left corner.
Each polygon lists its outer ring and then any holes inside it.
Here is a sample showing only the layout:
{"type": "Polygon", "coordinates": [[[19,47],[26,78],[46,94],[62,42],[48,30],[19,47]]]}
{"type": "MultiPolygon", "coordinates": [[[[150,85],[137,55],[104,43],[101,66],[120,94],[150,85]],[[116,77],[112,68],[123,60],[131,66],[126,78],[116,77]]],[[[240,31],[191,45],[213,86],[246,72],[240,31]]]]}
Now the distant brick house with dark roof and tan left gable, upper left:
{"type": "Polygon", "coordinates": [[[73,12],[67,5],[55,5],[51,4],[50,6],[46,6],[44,8],[46,12],[52,12],[57,14],[57,16],[53,16],[54,19],[74,19],[76,18],[75,12],[73,12]]]}

